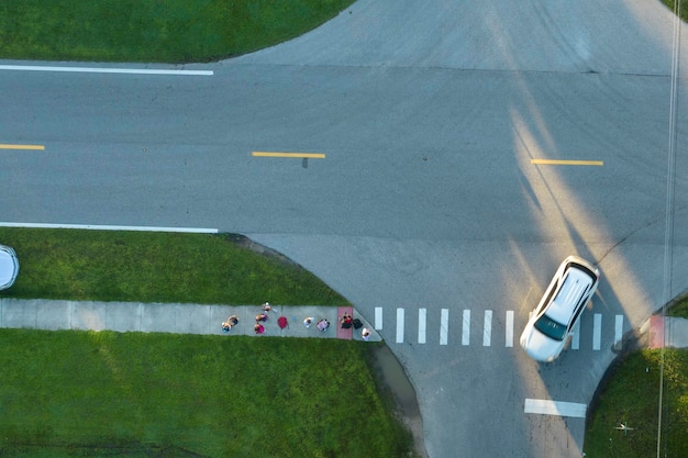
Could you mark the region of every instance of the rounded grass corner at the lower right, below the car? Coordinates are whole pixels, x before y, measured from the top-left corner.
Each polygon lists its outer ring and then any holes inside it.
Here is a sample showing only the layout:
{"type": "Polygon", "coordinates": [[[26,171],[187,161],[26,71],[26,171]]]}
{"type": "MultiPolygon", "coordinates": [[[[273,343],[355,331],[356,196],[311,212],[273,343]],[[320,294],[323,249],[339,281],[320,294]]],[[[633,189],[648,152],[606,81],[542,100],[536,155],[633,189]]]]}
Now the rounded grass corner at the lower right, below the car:
{"type": "MultiPolygon", "coordinates": [[[[637,350],[602,384],[587,424],[589,458],[646,458],[657,450],[661,350],[637,350]],[[620,424],[633,428],[624,434],[620,424]]],[[[688,350],[666,349],[662,456],[688,450],[688,350]],[[665,455],[666,453],[666,455],[665,455]]]]}

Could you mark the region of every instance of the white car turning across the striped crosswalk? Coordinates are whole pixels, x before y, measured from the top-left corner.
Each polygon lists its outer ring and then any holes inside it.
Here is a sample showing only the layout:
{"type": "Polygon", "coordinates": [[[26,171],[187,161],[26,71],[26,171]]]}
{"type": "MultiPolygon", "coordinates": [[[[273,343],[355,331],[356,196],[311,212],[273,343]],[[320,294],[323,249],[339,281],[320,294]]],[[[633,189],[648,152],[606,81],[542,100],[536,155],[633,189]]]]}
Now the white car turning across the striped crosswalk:
{"type": "Polygon", "coordinates": [[[536,361],[555,360],[592,298],[600,271],[578,256],[564,259],[521,334],[521,347],[536,361]]]}

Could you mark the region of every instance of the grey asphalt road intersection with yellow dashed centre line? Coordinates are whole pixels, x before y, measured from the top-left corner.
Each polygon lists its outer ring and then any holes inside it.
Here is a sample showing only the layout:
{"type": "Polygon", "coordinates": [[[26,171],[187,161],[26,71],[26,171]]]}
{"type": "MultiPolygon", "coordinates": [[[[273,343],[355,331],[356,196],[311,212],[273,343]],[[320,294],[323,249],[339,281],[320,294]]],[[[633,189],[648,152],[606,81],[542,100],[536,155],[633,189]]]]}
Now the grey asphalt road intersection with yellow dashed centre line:
{"type": "Polygon", "coordinates": [[[525,399],[588,403],[615,316],[632,332],[667,284],[688,288],[684,80],[670,268],[664,246],[672,16],[654,1],[421,3],[359,1],[192,66],[212,77],[0,72],[0,143],[45,145],[0,150],[0,220],[246,234],[384,313],[431,458],[581,456],[585,420],[525,399]],[[518,335],[572,253],[603,280],[580,348],[537,365],[518,335]]]}

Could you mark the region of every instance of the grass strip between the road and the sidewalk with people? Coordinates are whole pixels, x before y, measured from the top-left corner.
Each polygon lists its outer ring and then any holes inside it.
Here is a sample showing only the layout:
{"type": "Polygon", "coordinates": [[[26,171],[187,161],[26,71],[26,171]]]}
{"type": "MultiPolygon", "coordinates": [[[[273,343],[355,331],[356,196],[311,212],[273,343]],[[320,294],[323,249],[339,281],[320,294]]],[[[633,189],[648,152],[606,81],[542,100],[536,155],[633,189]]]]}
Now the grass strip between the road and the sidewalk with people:
{"type": "Polygon", "coordinates": [[[289,305],[347,301],[299,266],[230,235],[0,227],[20,261],[0,297],[289,305]]]}

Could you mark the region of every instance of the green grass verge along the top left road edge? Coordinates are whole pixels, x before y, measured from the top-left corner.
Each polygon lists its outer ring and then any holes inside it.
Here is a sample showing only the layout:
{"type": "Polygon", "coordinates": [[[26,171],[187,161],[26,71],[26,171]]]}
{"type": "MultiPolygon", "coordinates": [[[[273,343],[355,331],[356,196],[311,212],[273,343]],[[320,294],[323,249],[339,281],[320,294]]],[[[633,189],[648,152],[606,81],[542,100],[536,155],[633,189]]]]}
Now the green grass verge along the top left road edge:
{"type": "Polygon", "coordinates": [[[208,62],[275,45],[353,0],[7,0],[0,58],[208,62]]]}

